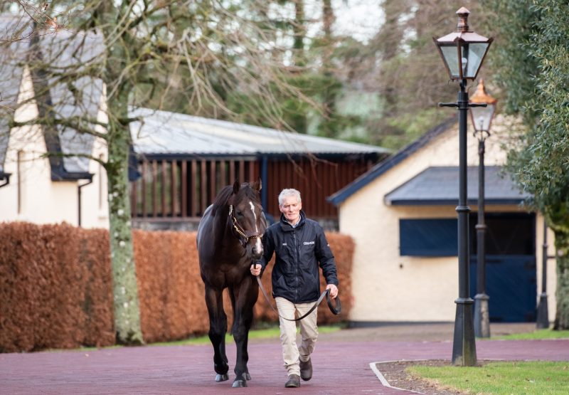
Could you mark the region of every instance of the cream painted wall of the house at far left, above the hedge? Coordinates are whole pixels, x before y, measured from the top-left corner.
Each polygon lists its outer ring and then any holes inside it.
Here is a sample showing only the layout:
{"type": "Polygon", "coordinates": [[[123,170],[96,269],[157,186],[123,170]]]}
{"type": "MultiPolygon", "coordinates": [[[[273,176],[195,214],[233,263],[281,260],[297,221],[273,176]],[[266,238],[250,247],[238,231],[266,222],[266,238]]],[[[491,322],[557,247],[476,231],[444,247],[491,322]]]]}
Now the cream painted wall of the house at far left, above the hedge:
{"type": "MultiPolygon", "coordinates": [[[[26,69],[18,102],[25,102],[30,97],[31,79],[26,69]]],[[[18,107],[14,119],[26,122],[37,116],[36,103],[27,102],[18,107]]],[[[105,158],[105,152],[105,145],[97,141],[93,154],[105,158]]],[[[45,153],[46,143],[37,125],[15,127],[10,131],[4,171],[11,173],[11,177],[10,183],[0,188],[0,221],[78,224],[78,184],[86,181],[51,181],[49,161],[41,157],[45,153]]],[[[90,172],[95,174],[93,183],[82,189],[82,226],[108,228],[104,170],[97,162],[91,161],[90,172]]]]}

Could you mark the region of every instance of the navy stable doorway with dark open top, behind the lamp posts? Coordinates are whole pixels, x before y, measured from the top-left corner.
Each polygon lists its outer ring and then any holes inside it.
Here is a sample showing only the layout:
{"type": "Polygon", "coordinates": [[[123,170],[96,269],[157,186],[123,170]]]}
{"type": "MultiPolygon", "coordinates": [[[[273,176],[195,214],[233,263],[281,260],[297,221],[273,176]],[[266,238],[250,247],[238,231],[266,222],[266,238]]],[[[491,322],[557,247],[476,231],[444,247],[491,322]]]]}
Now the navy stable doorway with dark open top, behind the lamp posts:
{"type": "MultiPolygon", "coordinates": [[[[476,252],[476,214],[470,221],[470,251],[476,252]]],[[[536,231],[534,214],[486,214],[486,295],[490,322],[536,320],[536,231]]],[[[477,294],[477,256],[470,256],[470,296],[477,294]]]]}

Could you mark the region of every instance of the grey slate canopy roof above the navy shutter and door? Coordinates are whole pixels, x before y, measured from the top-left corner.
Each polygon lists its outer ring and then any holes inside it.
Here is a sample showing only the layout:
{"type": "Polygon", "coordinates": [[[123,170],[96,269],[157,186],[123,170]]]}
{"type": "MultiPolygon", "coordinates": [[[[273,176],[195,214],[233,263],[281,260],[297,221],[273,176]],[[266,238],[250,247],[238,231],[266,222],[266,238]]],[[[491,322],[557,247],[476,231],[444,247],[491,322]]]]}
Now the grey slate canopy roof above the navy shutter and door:
{"type": "MultiPolygon", "coordinates": [[[[523,194],[502,167],[484,168],[486,204],[521,204],[530,197],[523,194]]],[[[458,203],[459,167],[429,167],[385,195],[393,206],[454,205],[458,203]]],[[[478,167],[467,169],[467,201],[478,203],[478,167]]]]}

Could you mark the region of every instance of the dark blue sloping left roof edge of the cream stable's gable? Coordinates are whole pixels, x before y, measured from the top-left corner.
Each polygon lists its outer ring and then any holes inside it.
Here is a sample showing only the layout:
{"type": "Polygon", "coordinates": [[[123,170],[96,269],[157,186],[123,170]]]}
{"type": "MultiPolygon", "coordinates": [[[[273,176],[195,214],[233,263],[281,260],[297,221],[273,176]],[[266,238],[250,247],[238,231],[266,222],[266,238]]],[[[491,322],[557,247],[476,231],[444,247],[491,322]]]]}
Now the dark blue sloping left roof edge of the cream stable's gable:
{"type": "Polygon", "coordinates": [[[456,122],[457,115],[454,115],[453,117],[450,117],[449,119],[442,122],[440,125],[433,127],[431,130],[416,139],[407,147],[401,149],[399,152],[391,157],[388,157],[382,162],[379,162],[374,167],[369,169],[368,172],[362,174],[360,177],[353,180],[350,184],[344,186],[344,188],[329,196],[326,200],[335,206],[339,206],[339,204],[348,199],[352,194],[355,194],[357,191],[363,188],[363,186],[368,185],[371,183],[371,181],[380,177],[381,174],[397,166],[400,162],[403,162],[403,160],[407,159],[415,152],[417,152],[418,149],[425,147],[425,145],[429,144],[432,139],[440,135],[442,132],[448,130],[456,122]]]}

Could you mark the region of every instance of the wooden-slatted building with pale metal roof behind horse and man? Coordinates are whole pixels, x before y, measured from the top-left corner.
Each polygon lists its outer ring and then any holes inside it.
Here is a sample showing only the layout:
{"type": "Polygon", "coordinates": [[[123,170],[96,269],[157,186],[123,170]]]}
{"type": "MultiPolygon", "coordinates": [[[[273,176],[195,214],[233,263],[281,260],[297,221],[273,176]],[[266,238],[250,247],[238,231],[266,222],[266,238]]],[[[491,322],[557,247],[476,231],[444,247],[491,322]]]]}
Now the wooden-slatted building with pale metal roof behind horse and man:
{"type": "Polygon", "coordinates": [[[337,230],[336,206],[326,198],[390,154],[368,144],[267,127],[139,108],[132,144],[139,178],[132,181],[133,226],[196,229],[223,186],[262,180],[261,201],[278,218],[277,196],[299,189],[307,216],[337,230]]]}

